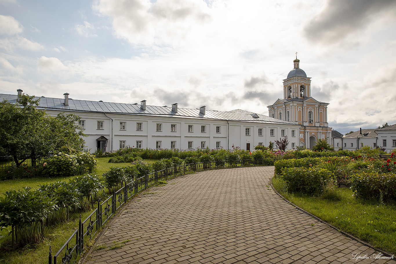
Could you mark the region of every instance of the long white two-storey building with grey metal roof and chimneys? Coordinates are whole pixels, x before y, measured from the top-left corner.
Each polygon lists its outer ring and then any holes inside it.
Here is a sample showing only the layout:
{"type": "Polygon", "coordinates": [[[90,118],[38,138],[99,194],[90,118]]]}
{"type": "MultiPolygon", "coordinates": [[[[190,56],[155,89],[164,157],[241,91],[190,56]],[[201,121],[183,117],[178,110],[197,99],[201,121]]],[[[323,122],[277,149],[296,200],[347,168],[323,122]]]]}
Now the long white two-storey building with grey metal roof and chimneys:
{"type": "MultiPolygon", "coordinates": [[[[18,90],[21,94],[22,90],[18,90]]],[[[17,95],[0,94],[0,100],[16,103],[17,95]]],[[[229,112],[178,108],[168,106],[107,103],[103,101],[36,97],[38,109],[56,116],[59,112],[80,116],[84,128],[86,148],[115,151],[126,146],[153,149],[232,149],[253,150],[254,146],[268,146],[287,136],[288,148],[299,144],[301,125],[245,110],[229,112]]]]}

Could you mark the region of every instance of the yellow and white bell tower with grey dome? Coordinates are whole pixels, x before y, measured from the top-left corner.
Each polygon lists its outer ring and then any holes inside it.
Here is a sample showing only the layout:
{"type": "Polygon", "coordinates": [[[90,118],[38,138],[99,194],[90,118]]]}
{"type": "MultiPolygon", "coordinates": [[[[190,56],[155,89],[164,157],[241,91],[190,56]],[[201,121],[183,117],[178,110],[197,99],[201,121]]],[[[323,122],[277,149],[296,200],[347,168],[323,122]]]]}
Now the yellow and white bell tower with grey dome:
{"type": "Polygon", "coordinates": [[[327,123],[328,103],[311,97],[311,78],[299,67],[295,59],[294,69],[283,80],[283,99],[268,106],[270,117],[298,123],[300,146],[312,148],[318,139],[330,144],[331,127],[327,123]]]}

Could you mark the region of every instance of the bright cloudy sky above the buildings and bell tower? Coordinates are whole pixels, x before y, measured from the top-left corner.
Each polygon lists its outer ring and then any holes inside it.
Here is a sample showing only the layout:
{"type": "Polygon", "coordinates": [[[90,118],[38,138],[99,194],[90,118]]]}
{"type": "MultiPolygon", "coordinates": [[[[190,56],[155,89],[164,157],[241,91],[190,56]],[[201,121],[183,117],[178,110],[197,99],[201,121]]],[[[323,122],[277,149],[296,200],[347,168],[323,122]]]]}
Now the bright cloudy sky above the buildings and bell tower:
{"type": "Polygon", "coordinates": [[[0,0],[0,93],[268,115],[296,51],[329,126],[396,123],[394,0],[0,0]]]}

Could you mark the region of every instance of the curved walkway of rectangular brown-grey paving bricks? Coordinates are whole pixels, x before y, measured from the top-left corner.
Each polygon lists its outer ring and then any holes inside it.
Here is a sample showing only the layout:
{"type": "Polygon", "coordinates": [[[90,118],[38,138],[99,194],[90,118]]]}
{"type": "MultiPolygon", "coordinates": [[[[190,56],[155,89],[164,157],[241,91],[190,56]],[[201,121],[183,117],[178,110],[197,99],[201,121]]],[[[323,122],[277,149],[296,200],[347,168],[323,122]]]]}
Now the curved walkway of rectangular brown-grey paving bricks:
{"type": "Polygon", "coordinates": [[[151,188],[103,234],[87,264],[396,263],[373,259],[373,249],[286,203],[270,187],[273,173],[220,169],[151,188]]]}

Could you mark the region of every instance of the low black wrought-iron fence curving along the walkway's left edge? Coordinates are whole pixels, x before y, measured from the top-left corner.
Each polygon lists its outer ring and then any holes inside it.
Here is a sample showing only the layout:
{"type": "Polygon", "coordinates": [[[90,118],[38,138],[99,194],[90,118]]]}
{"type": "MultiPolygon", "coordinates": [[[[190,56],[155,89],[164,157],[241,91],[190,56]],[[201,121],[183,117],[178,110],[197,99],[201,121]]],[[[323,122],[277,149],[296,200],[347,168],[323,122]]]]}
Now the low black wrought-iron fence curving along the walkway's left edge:
{"type": "Polygon", "coordinates": [[[107,224],[110,218],[123,205],[125,205],[129,199],[133,198],[148,187],[157,184],[161,180],[167,180],[178,175],[208,169],[273,165],[275,160],[278,160],[278,158],[190,163],[156,171],[139,177],[129,183],[124,182],[124,186],[122,186],[122,188],[117,191],[113,190],[112,195],[103,202],[99,199],[97,202],[97,208],[95,208],[95,210],[85,220],[82,221],[80,217],[78,229],[73,232],[55,255],[52,255],[51,247],[49,247],[48,263],[76,263],[80,258],[80,255],[84,253],[84,250],[87,248],[87,243],[96,236],[101,228],[107,224]]]}

